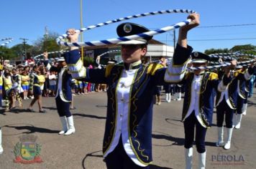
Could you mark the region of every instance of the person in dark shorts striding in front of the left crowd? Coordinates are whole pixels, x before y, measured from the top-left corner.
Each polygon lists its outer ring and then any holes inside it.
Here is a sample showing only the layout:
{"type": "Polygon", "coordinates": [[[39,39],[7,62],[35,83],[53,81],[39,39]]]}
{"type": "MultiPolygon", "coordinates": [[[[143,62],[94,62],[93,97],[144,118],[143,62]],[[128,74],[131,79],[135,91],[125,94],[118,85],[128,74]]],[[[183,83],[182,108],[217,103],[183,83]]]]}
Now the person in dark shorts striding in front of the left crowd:
{"type": "Polygon", "coordinates": [[[31,82],[30,84],[33,87],[32,91],[33,91],[34,98],[31,101],[29,107],[27,108],[27,111],[35,112],[34,110],[32,110],[32,106],[37,101],[38,102],[38,107],[39,107],[39,112],[45,113],[46,110],[42,109],[42,90],[41,90],[41,86],[44,83],[43,82],[44,76],[41,74],[41,71],[40,71],[39,67],[35,67],[34,71],[35,72],[32,72],[31,77],[30,77],[30,79],[32,79],[32,82],[30,80],[30,82],[31,82]]]}

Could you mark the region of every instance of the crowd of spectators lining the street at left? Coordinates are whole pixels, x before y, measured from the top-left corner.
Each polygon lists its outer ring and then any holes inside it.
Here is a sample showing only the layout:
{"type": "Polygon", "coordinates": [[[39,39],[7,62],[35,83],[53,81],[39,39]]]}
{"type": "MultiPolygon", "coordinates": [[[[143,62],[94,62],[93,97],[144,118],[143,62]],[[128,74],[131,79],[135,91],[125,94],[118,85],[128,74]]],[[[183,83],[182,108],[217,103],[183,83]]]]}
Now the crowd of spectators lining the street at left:
{"type": "MultiPolygon", "coordinates": [[[[58,62],[52,62],[52,65],[58,62]]],[[[89,65],[89,68],[93,68],[89,65]]],[[[22,107],[22,100],[34,98],[33,85],[36,75],[40,83],[42,97],[55,97],[58,73],[50,72],[43,62],[29,62],[29,64],[2,65],[0,64],[0,106],[6,106],[6,110],[14,109],[15,102],[19,101],[22,107]]],[[[92,92],[106,92],[106,84],[92,84],[72,80],[73,95],[87,95],[92,92]]]]}

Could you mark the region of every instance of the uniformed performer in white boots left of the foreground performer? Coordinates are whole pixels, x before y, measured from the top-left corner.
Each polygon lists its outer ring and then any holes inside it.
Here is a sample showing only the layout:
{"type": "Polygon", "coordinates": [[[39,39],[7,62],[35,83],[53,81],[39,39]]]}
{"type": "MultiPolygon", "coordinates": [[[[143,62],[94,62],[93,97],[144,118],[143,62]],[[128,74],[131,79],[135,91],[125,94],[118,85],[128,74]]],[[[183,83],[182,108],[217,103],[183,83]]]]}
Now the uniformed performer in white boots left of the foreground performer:
{"type": "Polygon", "coordinates": [[[52,72],[58,72],[58,81],[56,87],[56,106],[60,116],[60,122],[63,125],[63,130],[59,135],[71,135],[76,132],[73,122],[73,115],[70,113],[70,102],[72,100],[71,80],[72,77],[68,73],[68,66],[63,57],[58,59],[58,67],[53,67],[48,61],[48,54],[45,52],[45,67],[52,72]]]}

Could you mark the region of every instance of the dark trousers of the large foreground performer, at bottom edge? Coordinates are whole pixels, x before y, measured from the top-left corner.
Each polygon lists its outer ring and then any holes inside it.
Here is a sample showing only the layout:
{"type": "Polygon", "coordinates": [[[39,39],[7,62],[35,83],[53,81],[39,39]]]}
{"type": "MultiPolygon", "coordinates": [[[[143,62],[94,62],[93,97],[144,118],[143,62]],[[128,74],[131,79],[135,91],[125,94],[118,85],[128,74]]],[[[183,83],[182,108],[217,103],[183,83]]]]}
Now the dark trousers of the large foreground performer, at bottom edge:
{"type": "Polygon", "coordinates": [[[129,158],[129,156],[124,150],[124,146],[122,145],[122,137],[120,137],[119,143],[118,145],[116,145],[114,151],[112,151],[111,153],[109,153],[109,155],[106,156],[105,162],[106,168],[108,169],[149,169],[149,166],[140,167],[139,165],[136,165],[129,158]]]}

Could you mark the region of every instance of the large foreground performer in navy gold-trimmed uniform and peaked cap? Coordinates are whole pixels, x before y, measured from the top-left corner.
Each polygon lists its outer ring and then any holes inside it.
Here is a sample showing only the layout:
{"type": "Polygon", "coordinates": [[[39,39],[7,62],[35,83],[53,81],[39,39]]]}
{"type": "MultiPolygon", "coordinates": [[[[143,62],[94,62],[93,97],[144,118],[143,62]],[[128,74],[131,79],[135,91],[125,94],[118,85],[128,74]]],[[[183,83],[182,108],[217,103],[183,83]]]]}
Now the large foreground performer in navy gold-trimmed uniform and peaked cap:
{"type": "MultiPolygon", "coordinates": [[[[186,62],[192,48],[187,45],[187,33],[199,24],[199,15],[191,14],[191,24],[180,28],[178,44],[173,54],[173,63],[168,68],[156,68],[155,64],[142,65],[141,58],[147,53],[144,37],[120,42],[121,64],[108,64],[104,69],[83,67],[78,47],[70,47],[65,61],[73,78],[98,84],[108,84],[106,127],[103,153],[106,167],[149,168],[152,163],[152,106],[155,86],[165,82],[179,82],[183,79],[186,62]]],[[[149,30],[133,23],[117,26],[119,37],[125,37],[149,30]]],[[[70,42],[78,42],[78,33],[68,30],[70,42]]]]}

